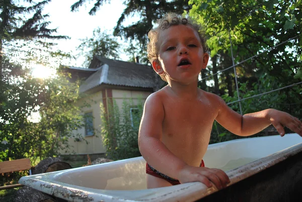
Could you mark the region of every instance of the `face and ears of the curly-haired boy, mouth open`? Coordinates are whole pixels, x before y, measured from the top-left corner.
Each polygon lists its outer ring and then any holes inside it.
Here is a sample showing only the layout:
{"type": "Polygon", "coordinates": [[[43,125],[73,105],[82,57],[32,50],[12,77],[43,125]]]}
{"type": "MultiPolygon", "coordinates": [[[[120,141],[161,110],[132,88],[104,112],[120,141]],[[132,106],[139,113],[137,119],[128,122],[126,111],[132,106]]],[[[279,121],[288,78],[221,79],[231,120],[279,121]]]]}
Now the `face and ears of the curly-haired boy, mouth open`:
{"type": "Polygon", "coordinates": [[[159,74],[166,74],[169,82],[189,84],[198,80],[209,55],[203,52],[197,31],[190,26],[176,25],[162,30],[159,35],[159,61],[152,66],[159,74]]]}

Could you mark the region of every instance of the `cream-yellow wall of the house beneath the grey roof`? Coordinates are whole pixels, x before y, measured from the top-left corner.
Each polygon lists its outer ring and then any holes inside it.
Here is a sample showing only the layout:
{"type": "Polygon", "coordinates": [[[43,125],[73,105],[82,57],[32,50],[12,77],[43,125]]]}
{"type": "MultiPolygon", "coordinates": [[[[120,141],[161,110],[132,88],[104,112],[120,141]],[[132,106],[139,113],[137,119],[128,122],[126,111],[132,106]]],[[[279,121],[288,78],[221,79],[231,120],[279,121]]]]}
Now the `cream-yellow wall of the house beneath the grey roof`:
{"type": "MultiPolygon", "coordinates": [[[[106,89],[107,90],[107,89],[106,89]]],[[[107,90],[108,92],[108,90],[107,90]]],[[[112,89],[112,98],[115,99],[119,109],[122,107],[122,102],[124,99],[132,99],[133,104],[137,104],[137,98],[140,97],[142,104],[144,104],[145,99],[152,92],[144,92],[144,91],[129,91],[129,90],[115,90],[112,89]]],[[[110,98],[110,97],[109,97],[110,98]]],[[[77,105],[83,106],[85,103],[90,104],[90,106],[86,106],[82,108],[82,113],[93,113],[93,126],[96,129],[96,135],[85,137],[85,128],[81,128],[78,130],[74,130],[74,134],[80,133],[81,136],[88,142],[86,144],[85,141],[75,142],[74,138],[70,138],[68,143],[72,146],[67,152],[61,151],[61,154],[102,154],[106,152],[105,147],[102,143],[101,137],[101,106],[103,106],[103,96],[102,92],[99,91],[95,94],[92,94],[88,97],[80,100],[77,105]]]]}

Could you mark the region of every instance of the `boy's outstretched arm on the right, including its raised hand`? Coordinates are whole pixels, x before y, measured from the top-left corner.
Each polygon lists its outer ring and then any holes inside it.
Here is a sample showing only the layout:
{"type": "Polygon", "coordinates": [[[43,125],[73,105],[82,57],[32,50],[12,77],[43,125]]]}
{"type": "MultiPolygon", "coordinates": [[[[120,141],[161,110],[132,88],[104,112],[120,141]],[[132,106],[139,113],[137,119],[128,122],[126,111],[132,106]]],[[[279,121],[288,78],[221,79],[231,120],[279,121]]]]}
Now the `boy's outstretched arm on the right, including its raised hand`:
{"type": "MultiPolygon", "coordinates": [[[[218,96],[217,96],[218,97],[218,96]]],[[[284,136],[284,126],[302,136],[302,123],[296,117],[275,109],[265,109],[255,113],[240,115],[218,97],[219,112],[216,121],[238,136],[251,136],[265,129],[270,124],[284,136]]]]}

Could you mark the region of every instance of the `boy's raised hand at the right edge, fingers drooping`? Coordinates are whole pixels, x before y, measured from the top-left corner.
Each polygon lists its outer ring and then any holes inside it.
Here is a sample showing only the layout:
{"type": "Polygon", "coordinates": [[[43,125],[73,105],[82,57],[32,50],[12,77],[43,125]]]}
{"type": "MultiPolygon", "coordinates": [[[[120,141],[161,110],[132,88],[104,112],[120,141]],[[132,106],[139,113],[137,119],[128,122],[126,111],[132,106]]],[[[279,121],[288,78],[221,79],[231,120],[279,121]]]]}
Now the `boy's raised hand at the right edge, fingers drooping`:
{"type": "Polygon", "coordinates": [[[285,134],[284,126],[299,134],[302,137],[302,122],[290,114],[272,109],[268,114],[268,118],[273,126],[277,129],[280,136],[285,134]]]}

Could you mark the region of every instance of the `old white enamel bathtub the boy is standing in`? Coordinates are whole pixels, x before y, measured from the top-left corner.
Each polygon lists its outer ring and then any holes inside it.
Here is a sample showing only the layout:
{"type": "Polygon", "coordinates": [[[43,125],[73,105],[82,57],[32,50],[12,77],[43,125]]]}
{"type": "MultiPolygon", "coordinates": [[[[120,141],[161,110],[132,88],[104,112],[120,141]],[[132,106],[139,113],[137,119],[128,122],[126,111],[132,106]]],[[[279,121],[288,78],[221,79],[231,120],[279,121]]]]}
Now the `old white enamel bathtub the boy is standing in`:
{"type": "MultiPolygon", "coordinates": [[[[235,184],[302,153],[302,138],[246,138],[209,145],[205,166],[222,168],[235,184]],[[230,167],[231,165],[231,167],[230,167]],[[233,165],[233,168],[232,168],[233,165]],[[223,168],[224,167],[224,168],[223,168]]],[[[195,201],[217,189],[200,182],[146,189],[142,157],[22,177],[19,183],[68,201],[195,201]]]]}

